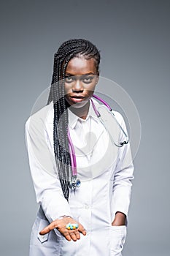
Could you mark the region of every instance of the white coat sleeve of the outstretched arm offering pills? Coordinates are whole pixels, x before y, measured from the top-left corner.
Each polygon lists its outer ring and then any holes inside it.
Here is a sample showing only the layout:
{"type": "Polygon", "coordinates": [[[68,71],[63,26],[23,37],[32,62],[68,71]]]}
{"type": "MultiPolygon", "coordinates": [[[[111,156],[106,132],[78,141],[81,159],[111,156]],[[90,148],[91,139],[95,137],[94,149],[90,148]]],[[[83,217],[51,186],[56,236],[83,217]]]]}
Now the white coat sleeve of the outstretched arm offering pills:
{"type": "Polygon", "coordinates": [[[55,170],[54,155],[47,145],[47,131],[45,130],[44,119],[36,115],[28,118],[25,132],[36,202],[42,206],[49,222],[63,215],[71,216],[69,203],[63,196],[61,184],[55,170]]]}

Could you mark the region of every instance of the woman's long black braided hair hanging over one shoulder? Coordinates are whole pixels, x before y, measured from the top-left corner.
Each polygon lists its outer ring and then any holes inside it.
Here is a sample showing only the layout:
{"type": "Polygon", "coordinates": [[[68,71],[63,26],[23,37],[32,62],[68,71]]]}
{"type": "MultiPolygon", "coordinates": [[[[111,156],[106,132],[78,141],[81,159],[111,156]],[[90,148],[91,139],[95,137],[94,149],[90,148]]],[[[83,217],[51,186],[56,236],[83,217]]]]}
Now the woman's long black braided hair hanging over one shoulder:
{"type": "Polygon", "coordinates": [[[53,146],[58,178],[66,200],[69,200],[69,187],[72,178],[72,162],[69,154],[68,111],[69,107],[64,98],[64,78],[69,61],[77,56],[85,59],[93,58],[96,70],[100,63],[100,53],[95,45],[86,39],[71,39],[58,48],[54,55],[53,78],[47,104],[53,101],[53,146]]]}

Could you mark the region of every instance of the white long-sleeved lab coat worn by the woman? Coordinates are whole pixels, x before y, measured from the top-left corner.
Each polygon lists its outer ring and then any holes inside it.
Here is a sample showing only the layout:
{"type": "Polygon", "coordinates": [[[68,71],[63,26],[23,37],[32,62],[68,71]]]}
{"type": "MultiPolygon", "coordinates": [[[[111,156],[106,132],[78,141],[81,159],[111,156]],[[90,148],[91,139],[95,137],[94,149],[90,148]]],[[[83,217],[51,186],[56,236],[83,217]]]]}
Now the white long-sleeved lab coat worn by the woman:
{"type": "MultiPolygon", "coordinates": [[[[93,102],[100,109],[104,124],[108,127],[111,124],[109,132],[114,140],[123,141],[123,132],[112,124],[112,117],[96,100],[93,102]]],[[[115,116],[125,129],[120,113],[115,112],[115,116]]],[[[31,232],[30,256],[120,256],[126,226],[113,227],[111,223],[117,211],[128,216],[131,179],[134,178],[129,143],[122,148],[112,143],[91,103],[85,121],[69,110],[69,131],[81,186],[75,193],[70,192],[68,203],[63,197],[53,153],[53,102],[26,122],[28,159],[40,206],[31,232]],[[66,241],[58,230],[39,235],[40,230],[63,215],[80,222],[87,235],[81,235],[76,242],[66,241]]]]}

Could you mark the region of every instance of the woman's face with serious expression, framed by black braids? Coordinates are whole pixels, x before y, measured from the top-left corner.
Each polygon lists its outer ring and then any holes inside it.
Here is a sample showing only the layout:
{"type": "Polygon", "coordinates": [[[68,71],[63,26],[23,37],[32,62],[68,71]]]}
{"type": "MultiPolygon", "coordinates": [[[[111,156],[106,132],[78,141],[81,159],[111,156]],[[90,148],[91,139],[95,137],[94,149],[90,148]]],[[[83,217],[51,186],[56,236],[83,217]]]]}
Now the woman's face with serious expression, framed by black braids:
{"type": "Polygon", "coordinates": [[[65,98],[74,108],[82,108],[89,102],[98,82],[94,59],[74,57],[66,67],[65,98]]]}

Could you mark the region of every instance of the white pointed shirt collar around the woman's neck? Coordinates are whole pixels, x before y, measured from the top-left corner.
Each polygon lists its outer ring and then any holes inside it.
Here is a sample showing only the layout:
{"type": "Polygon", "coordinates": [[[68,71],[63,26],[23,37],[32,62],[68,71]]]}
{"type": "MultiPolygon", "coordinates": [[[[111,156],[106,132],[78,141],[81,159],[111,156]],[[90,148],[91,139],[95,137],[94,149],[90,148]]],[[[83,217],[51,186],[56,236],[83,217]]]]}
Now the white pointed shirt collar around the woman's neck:
{"type": "MultiPolygon", "coordinates": [[[[96,108],[98,108],[99,103],[96,101],[96,99],[92,99],[94,102],[94,105],[96,106],[96,108]]],[[[93,105],[90,101],[90,105],[89,105],[89,109],[88,109],[88,116],[85,119],[80,118],[79,116],[76,116],[74,113],[72,113],[71,110],[68,109],[68,113],[69,113],[69,127],[71,127],[72,129],[74,129],[77,125],[77,121],[87,121],[88,118],[93,118],[94,121],[98,122],[98,117],[96,116],[96,113],[93,109],[93,105]]]]}

